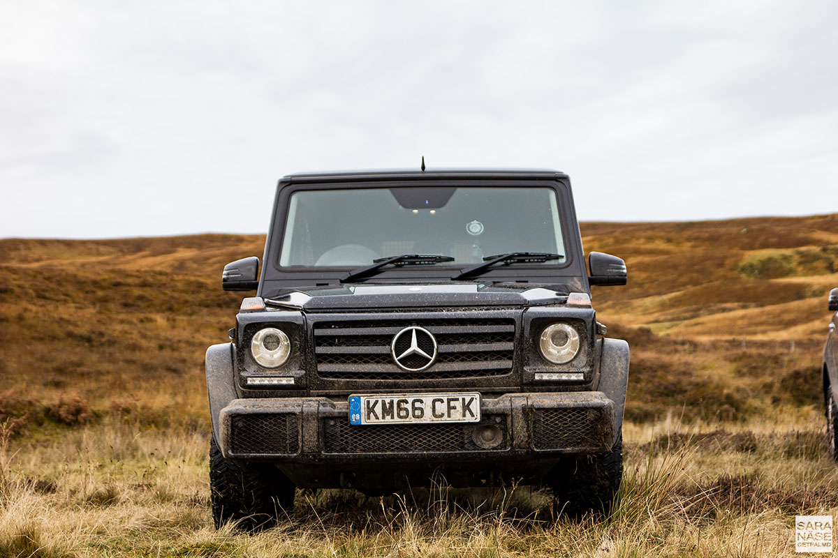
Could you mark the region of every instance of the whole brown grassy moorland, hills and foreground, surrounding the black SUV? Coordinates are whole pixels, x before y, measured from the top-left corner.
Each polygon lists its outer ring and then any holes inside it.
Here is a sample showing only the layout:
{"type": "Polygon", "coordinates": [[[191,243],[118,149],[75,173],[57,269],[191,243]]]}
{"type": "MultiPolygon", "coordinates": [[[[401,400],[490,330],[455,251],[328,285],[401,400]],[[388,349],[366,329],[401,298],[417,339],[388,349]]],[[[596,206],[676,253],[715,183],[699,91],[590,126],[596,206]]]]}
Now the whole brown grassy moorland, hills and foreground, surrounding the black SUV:
{"type": "Polygon", "coordinates": [[[632,346],[610,517],[529,487],[321,491],[259,535],[212,529],[202,368],[241,299],[220,269],[264,238],[0,240],[0,557],[793,555],[795,514],[838,511],[819,394],[838,215],[582,233],[629,266],[593,293],[632,346]]]}

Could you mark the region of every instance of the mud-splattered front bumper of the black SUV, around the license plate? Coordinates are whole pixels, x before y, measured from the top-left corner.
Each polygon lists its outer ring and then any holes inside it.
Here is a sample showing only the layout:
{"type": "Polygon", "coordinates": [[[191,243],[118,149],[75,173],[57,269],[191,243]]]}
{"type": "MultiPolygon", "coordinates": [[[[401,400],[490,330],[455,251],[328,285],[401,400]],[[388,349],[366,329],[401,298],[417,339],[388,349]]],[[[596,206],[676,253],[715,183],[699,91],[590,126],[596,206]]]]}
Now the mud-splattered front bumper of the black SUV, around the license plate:
{"type": "Polygon", "coordinates": [[[225,458],[314,465],[515,461],[607,451],[615,439],[614,402],[603,392],[513,393],[485,397],[480,409],[477,423],[350,426],[348,401],[234,399],[219,412],[219,443],[225,458]]]}

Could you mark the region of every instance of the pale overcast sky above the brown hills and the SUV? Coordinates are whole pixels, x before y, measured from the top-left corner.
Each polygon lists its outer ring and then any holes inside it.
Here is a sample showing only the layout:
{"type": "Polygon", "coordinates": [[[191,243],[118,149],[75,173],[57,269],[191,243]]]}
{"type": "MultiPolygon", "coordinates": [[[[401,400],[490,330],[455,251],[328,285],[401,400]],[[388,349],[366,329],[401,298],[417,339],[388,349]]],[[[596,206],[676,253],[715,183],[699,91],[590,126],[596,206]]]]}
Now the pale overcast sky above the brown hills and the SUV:
{"type": "Polygon", "coordinates": [[[0,238],[265,232],[295,171],[536,166],[582,220],[838,211],[838,3],[0,0],[0,238]]]}

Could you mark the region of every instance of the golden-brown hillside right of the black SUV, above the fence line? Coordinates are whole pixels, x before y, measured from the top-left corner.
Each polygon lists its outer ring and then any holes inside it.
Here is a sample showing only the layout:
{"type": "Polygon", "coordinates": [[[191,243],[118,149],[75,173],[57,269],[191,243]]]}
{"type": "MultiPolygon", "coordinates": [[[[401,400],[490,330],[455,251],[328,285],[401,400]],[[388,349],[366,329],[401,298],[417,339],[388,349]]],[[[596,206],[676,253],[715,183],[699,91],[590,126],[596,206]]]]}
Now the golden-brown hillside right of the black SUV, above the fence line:
{"type": "Polygon", "coordinates": [[[603,320],[675,337],[822,338],[838,286],[838,214],[696,223],[583,223],[586,251],[626,260],[596,288],[603,320]]]}

